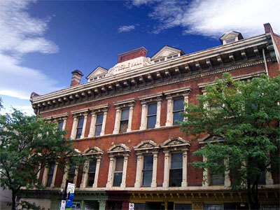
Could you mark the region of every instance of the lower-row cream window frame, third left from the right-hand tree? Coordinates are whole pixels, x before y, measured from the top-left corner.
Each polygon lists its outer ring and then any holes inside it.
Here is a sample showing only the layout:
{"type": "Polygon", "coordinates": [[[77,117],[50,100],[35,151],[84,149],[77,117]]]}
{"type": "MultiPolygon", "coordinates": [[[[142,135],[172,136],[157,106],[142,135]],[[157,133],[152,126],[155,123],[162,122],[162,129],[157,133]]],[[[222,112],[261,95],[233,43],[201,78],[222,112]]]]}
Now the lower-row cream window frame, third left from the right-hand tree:
{"type": "Polygon", "coordinates": [[[125,188],[125,180],[127,176],[127,160],[130,155],[130,148],[125,146],[125,144],[113,145],[107,151],[109,154],[110,162],[109,162],[109,172],[108,179],[106,183],[106,188],[125,188]],[[120,187],[113,187],[113,177],[116,167],[116,158],[123,157],[123,177],[122,183],[120,183],[120,187]]]}

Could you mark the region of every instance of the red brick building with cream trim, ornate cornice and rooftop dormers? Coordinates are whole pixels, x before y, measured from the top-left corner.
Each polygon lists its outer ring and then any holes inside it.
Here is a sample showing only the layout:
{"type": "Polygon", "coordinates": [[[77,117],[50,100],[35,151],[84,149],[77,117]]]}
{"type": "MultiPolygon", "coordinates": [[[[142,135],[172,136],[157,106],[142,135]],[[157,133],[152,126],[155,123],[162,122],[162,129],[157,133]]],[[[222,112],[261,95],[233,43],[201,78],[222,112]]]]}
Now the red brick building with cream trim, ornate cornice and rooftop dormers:
{"type": "MultiPolygon", "coordinates": [[[[55,164],[39,178],[46,190],[29,190],[26,199],[59,209],[59,189],[75,183],[76,209],[248,209],[246,193],[228,190],[231,180],[193,169],[188,162],[209,137],[191,141],[179,130],[183,102],[222,73],[250,80],[280,69],[280,36],[265,24],[265,34],[244,39],[231,31],[221,45],[188,55],[165,45],[153,57],[143,47],[118,55],[109,71],[97,66],[83,76],[72,72],[71,87],[31,94],[34,112],[68,130],[75,148],[87,155],[84,174],[55,164]],[[207,181],[203,182],[203,176],[207,181]]],[[[262,207],[279,205],[279,175],[265,174],[262,207]],[[270,205],[270,206],[267,206],[270,205]]]]}

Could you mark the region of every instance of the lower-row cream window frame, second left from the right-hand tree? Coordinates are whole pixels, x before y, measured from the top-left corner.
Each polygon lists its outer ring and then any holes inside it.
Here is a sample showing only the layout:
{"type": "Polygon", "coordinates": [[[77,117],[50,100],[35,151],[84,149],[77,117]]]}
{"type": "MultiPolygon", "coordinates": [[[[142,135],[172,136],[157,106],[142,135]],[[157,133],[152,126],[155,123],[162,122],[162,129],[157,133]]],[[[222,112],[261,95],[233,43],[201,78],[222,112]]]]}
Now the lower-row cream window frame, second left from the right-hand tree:
{"type": "MultiPolygon", "coordinates": [[[[157,169],[158,169],[158,151],[160,146],[155,144],[155,142],[151,140],[141,141],[137,146],[134,146],[134,151],[137,155],[137,171],[136,171],[136,179],[134,183],[134,188],[140,188],[142,186],[143,179],[143,162],[144,155],[153,155],[153,176],[151,188],[157,187],[157,169]]],[[[148,186],[145,186],[150,188],[148,186]]]]}

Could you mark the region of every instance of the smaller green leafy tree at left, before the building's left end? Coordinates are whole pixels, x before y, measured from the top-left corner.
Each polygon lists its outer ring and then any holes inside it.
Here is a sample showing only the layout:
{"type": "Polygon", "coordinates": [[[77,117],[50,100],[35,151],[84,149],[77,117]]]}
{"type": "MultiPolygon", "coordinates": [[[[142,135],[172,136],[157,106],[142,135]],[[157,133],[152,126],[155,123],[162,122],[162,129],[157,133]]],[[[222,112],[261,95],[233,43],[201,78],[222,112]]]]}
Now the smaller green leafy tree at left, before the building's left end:
{"type": "Polygon", "coordinates": [[[37,179],[41,169],[54,162],[63,167],[65,159],[73,165],[84,161],[57,123],[46,123],[38,116],[14,110],[0,116],[0,127],[0,185],[11,190],[12,209],[22,188],[44,188],[37,179]]]}

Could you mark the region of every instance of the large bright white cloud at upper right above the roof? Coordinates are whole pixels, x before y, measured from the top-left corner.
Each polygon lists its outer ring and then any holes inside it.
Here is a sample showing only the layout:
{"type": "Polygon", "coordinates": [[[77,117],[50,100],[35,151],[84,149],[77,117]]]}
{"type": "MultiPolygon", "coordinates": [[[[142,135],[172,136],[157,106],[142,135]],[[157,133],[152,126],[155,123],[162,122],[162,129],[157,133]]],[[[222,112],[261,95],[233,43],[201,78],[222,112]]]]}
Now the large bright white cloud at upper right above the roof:
{"type": "Polygon", "coordinates": [[[275,0],[132,0],[132,6],[143,5],[152,8],[149,17],[156,21],[154,33],[182,27],[184,34],[218,37],[235,30],[255,36],[264,33],[266,22],[280,32],[280,1],[275,0]]]}

